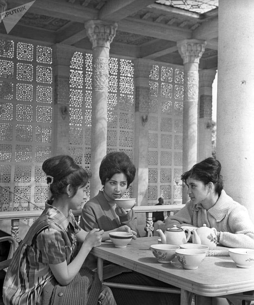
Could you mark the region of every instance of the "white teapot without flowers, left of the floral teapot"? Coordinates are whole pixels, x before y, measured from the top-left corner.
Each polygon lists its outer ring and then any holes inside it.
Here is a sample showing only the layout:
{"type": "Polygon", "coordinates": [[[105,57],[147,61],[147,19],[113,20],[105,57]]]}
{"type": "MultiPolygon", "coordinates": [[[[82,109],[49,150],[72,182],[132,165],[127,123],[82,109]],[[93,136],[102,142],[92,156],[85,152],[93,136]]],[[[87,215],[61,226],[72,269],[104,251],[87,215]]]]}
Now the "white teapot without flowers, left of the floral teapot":
{"type": "Polygon", "coordinates": [[[188,236],[186,237],[185,232],[175,224],[173,225],[173,228],[166,229],[164,233],[161,229],[156,231],[158,231],[163,244],[180,246],[188,242],[191,237],[191,231],[188,228],[185,230],[188,232],[188,236]]]}

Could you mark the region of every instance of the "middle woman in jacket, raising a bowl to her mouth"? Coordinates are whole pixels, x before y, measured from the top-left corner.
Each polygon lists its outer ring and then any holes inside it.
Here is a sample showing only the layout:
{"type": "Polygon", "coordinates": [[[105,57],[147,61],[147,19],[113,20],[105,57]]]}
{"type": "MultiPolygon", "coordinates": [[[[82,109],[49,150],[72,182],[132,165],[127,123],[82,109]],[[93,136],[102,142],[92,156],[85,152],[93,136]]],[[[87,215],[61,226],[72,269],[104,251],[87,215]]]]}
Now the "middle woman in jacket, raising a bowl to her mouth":
{"type": "MultiPolygon", "coordinates": [[[[91,231],[92,228],[104,230],[102,241],[109,240],[109,232],[113,231],[131,232],[134,234],[133,239],[139,237],[137,217],[133,209],[126,211],[115,202],[129,188],[135,173],[134,164],[124,152],[110,152],[102,159],[99,168],[102,191],[84,205],[80,218],[81,228],[85,231],[91,231]]],[[[96,258],[91,254],[86,259],[86,266],[93,270],[97,267],[96,258]]],[[[103,279],[105,282],[168,287],[168,284],[130,269],[112,263],[105,266],[105,261],[103,279]]],[[[112,288],[112,292],[117,304],[180,304],[180,295],[177,294],[140,290],[134,293],[131,289],[118,288],[112,288]]]]}

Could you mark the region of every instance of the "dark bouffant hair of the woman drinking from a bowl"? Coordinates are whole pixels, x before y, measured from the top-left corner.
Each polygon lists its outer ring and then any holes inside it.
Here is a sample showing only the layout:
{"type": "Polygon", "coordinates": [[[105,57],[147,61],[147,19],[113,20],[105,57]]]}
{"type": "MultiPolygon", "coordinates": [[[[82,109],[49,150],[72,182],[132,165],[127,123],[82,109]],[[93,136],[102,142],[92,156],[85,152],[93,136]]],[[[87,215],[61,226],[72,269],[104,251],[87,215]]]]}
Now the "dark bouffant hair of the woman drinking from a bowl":
{"type": "Polygon", "coordinates": [[[136,168],[124,152],[109,152],[103,159],[99,169],[102,185],[114,174],[123,173],[127,177],[127,188],[135,178],[136,168]]]}

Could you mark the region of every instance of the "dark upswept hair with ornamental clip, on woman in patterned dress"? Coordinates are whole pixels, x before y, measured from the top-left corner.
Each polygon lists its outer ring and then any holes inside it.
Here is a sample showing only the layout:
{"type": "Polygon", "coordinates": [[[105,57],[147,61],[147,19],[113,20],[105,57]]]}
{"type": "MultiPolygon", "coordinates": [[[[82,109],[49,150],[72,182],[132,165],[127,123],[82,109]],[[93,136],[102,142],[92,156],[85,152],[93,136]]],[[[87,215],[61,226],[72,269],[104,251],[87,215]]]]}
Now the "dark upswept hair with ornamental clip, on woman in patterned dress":
{"type": "MultiPolygon", "coordinates": [[[[84,168],[77,165],[70,156],[61,155],[51,157],[42,164],[42,169],[47,177],[47,183],[51,183],[50,191],[52,196],[50,199],[59,197],[64,194],[66,186],[71,185],[74,189],[72,197],[77,193],[79,187],[85,186],[91,177],[84,168]]],[[[51,200],[50,200],[51,201],[51,200]]]]}

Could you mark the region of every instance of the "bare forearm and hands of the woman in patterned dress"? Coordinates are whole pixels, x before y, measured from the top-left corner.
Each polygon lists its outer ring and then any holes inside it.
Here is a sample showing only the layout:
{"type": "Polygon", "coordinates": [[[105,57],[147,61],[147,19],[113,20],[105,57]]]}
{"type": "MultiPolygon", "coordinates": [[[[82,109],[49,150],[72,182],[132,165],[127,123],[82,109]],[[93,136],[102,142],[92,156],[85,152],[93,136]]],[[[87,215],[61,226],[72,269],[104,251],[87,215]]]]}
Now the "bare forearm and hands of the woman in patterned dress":
{"type": "MultiPolygon", "coordinates": [[[[79,238],[84,237],[84,230],[82,230],[79,235],[79,238]],[[83,231],[83,232],[82,232],[83,231]]],[[[82,246],[80,247],[77,256],[72,260],[72,262],[67,265],[66,260],[59,264],[49,264],[49,267],[60,285],[66,286],[78,273],[80,268],[82,267],[85,258],[88,253],[91,251],[93,247],[98,247],[101,245],[101,235],[103,234],[103,230],[99,231],[99,229],[93,229],[91,232],[87,233],[82,246]]]]}

